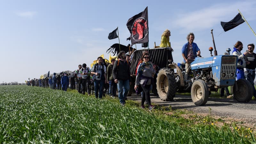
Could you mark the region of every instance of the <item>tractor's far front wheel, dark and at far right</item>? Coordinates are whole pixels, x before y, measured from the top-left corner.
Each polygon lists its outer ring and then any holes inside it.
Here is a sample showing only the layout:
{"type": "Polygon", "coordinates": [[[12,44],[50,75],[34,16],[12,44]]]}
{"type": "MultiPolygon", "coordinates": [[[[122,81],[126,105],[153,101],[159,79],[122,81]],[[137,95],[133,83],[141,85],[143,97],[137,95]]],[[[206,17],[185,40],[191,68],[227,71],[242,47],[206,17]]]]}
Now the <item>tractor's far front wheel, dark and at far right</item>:
{"type": "Polygon", "coordinates": [[[233,94],[238,102],[249,102],[253,95],[252,84],[246,79],[237,80],[233,87],[233,94]]]}

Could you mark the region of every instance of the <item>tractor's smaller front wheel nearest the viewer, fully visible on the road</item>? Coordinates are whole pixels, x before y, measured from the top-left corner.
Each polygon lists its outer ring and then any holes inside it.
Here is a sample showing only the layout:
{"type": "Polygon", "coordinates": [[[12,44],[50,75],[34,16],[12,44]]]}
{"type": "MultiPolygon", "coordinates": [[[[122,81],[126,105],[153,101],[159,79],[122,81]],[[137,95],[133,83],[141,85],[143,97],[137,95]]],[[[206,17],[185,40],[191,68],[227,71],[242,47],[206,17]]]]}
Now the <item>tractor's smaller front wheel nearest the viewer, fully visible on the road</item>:
{"type": "Polygon", "coordinates": [[[191,87],[191,98],[195,105],[205,105],[209,97],[209,89],[207,84],[199,79],[196,80],[191,87]]]}

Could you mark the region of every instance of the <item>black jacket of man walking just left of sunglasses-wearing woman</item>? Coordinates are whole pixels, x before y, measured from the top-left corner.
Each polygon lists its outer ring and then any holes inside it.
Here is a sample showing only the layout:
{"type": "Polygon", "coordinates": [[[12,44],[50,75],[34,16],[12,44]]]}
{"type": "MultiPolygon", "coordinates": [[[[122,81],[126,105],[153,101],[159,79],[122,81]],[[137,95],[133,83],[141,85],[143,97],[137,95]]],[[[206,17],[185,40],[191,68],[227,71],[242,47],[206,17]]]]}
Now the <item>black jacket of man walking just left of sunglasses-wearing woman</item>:
{"type": "Polygon", "coordinates": [[[129,80],[131,82],[130,67],[127,61],[116,60],[113,66],[112,75],[114,80],[129,80]],[[119,61],[119,64],[118,64],[119,61]],[[118,64],[118,66],[117,66],[118,64]]]}

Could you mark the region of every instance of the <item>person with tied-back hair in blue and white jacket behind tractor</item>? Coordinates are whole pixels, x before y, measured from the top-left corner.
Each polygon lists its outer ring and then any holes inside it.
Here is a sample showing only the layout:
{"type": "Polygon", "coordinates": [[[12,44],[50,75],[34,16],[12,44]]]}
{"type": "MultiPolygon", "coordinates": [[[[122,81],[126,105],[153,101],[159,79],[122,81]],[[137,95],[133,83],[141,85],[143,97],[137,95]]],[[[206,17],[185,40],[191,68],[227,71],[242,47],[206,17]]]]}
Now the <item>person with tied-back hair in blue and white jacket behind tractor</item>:
{"type": "Polygon", "coordinates": [[[246,66],[244,55],[248,52],[241,53],[243,50],[243,44],[240,41],[237,41],[234,45],[232,55],[238,56],[237,69],[236,69],[236,80],[244,78],[244,68],[246,66]]]}

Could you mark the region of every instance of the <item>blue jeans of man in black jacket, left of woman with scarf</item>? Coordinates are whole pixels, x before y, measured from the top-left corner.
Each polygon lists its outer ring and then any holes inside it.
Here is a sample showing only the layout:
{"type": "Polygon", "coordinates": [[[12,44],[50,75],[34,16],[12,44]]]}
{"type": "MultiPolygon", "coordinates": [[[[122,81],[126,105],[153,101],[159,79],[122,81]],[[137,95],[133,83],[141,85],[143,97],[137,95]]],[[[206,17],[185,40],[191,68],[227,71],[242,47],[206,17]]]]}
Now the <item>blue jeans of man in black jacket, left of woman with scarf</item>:
{"type": "Polygon", "coordinates": [[[118,98],[120,103],[125,103],[125,97],[130,90],[129,79],[118,80],[117,88],[118,88],[118,98]],[[123,87],[124,87],[124,91],[123,91],[123,87]]]}

